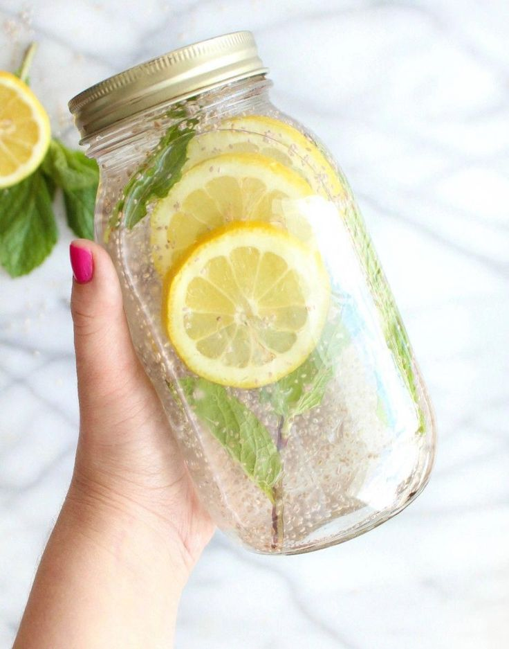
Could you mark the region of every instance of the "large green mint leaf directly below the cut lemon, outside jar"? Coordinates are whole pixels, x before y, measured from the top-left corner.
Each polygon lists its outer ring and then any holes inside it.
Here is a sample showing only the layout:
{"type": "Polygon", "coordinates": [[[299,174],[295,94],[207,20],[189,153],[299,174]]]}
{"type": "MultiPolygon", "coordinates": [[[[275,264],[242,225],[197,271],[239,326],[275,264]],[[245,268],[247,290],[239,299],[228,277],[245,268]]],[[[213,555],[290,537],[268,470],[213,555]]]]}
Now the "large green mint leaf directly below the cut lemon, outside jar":
{"type": "Polygon", "coordinates": [[[0,264],[12,277],[29,273],[57,242],[54,184],[40,170],[0,190],[0,264]]]}

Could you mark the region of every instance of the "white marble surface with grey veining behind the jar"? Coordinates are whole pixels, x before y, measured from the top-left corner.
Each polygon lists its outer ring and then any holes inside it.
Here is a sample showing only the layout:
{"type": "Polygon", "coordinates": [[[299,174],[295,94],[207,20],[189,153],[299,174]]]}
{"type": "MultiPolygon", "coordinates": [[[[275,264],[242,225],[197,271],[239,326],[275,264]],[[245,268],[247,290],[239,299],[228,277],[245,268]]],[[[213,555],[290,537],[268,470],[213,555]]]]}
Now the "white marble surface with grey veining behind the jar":
{"type": "MultiPolygon", "coordinates": [[[[185,649],[509,646],[509,7],[506,0],[0,0],[0,68],[66,101],[187,42],[252,29],[272,98],[328,142],[358,195],[438,419],[436,467],[395,519],[263,558],[214,537],[187,587],[185,649]]],[[[71,233],[0,272],[0,646],[14,637],[73,464],[71,233]]]]}

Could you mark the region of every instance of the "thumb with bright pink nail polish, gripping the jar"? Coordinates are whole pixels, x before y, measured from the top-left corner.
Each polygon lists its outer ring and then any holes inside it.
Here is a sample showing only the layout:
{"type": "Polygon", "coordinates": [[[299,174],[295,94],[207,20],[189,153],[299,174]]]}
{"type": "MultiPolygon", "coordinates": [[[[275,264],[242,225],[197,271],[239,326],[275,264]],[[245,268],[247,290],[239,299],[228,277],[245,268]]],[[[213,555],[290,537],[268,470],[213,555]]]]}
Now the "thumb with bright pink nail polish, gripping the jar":
{"type": "Polygon", "coordinates": [[[81,427],[94,435],[105,424],[120,428],[160,405],[136,357],[109,254],[80,239],[71,243],[70,255],[81,427]]]}

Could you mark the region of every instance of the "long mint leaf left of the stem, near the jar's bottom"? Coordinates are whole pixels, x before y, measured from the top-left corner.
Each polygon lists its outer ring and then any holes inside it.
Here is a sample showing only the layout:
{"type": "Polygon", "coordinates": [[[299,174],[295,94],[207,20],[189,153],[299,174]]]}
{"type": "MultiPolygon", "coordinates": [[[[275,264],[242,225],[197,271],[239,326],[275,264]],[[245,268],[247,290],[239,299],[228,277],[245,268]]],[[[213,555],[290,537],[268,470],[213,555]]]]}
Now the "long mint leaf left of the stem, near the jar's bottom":
{"type": "Polygon", "coordinates": [[[197,377],[179,383],[196,416],[273,503],[281,458],[266,427],[223,386],[197,377]]]}

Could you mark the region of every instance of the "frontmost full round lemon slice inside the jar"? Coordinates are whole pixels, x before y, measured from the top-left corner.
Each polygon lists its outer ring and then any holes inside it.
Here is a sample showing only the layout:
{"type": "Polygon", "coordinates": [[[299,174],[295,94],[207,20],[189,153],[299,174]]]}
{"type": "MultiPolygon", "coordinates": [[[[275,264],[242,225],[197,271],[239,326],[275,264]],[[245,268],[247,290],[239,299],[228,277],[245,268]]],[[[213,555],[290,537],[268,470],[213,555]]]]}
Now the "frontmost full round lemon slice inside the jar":
{"type": "Polygon", "coordinates": [[[237,223],[197,245],[169,277],[163,319],[189,369],[255,388],[308,357],[330,292],[317,252],[275,226],[237,223]]]}

